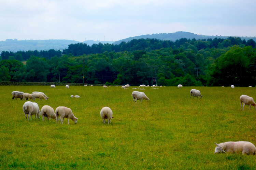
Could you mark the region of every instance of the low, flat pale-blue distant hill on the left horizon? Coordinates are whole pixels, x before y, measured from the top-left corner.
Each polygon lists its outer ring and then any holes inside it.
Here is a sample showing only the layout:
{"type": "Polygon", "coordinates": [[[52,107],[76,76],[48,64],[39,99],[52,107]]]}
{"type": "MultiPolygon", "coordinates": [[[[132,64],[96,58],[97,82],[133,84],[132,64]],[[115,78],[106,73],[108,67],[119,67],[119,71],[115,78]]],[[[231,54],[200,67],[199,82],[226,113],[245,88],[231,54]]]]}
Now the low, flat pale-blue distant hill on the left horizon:
{"type": "Polygon", "coordinates": [[[63,50],[68,48],[70,44],[80,43],[75,40],[66,39],[48,39],[48,40],[17,40],[17,39],[6,39],[0,41],[0,53],[2,51],[29,51],[29,50],[63,50]]]}

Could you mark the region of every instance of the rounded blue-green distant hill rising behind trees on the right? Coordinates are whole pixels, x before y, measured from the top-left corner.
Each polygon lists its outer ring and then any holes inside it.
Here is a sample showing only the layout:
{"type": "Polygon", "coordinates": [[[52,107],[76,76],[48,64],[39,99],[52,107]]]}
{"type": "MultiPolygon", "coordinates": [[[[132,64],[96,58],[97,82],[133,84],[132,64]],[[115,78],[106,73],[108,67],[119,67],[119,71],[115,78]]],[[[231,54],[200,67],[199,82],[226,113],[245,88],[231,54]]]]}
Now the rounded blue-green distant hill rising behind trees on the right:
{"type": "MultiPolygon", "coordinates": [[[[181,38],[187,38],[187,39],[207,39],[207,38],[223,38],[226,39],[229,36],[221,36],[221,35],[198,35],[198,34],[194,34],[194,33],[190,33],[190,32],[183,32],[183,31],[178,31],[175,33],[160,33],[160,34],[147,34],[147,35],[140,35],[140,36],[135,36],[135,37],[129,37],[129,38],[125,38],[125,39],[121,39],[119,41],[115,41],[115,43],[113,44],[120,44],[122,41],[124,42],[128,42],[132,39],[146,39],[146,38],[155,38],[155,39],[161,39],[161,40],[171,40],[171,41],[176,41],[177,39],[181,39],[181,38]]],[[[246,41],[248,39],[253,39],[254,41],[256,41],[256,37],[240,37],[242,40],[245,39],[246,41]]]]}

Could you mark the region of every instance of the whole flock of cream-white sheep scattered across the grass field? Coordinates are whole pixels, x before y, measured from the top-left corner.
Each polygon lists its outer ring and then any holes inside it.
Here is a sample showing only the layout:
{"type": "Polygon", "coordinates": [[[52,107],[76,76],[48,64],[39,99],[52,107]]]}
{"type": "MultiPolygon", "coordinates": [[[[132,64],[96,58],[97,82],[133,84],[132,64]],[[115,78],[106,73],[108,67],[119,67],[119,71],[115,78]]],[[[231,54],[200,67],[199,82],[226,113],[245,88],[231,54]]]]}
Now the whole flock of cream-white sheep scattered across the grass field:
{"type": "MultiPolygon", "coordinates": [[[[87,86],[87,85],[85,85],[85,86],[87,86]]],[[[55,88],[55,85],[51,85],[51,87],[55,88]]],[[[129,84],[122,86],[122,88],[124,88],[124,89],[127,89],[129,87],[130,87],[129,84]]],[[[149,87],[149,86],[140,85],[139,87],[149,87]]],[[[158,86],[153,85],[152,87],[154,88],[154,87],[158,87],[158,86]]],[[[183,86],[179,84],[177,87],[181,88],[183,86]]],[[[224,87],[224,86],[222,86],[222,87],[224,87]]],[[[230,87],[234,88],[233,85],[231,85],[230,87]]],[[[252,87],[252,86],[249,86],[249,87],[252,87]]],[[[69,85],[66,85],[66,88],[69,88],[69,85]]],[[[108,88],[108,87],[104,85],[103,88],[108,88]]],[[[138,88],[138,89],[140,89],[140,88],[138,88]]],[[[143,90],[143,89],[141,89],[141,90],[143,90]]],[[[143,99],[150,100],[145,95],[144,92],[140,92],[140,91],[133,91],[131,96],[133,98],[133,102],[135,100],[136,103],[137,103],[137,100],[140,100],[141,102],[143,99]]],[[[191,96],[200,97],[200,98],[203,97],[201,95],[200,91],[196,90],[196,89],[190,90],[190,98],[191,98],[191,96]]],[[[71,98],[80,98],[80,96],[74,96],[74,95],[71,95],[70,97],[71,98]]],[[[38,92],[38,91],[34,91],[34,92],[32,92],[32,94],[28,94],[28,93],[24,93],[24,92],[20,92],[20,91],[13,91],[12,99],[14,99],[14,98],[17,98],[17,99],[19,98],[20,100],[22,100],[22,99],[23,100],[28,100],[28,99],[35,100],[36,98],[38,98],[40,100],[48,99],[48,97],[43,92],[38,92]]],[[[246,95],[240,96],[241,111],[244,110],[245,104],[249,105],[249,109],[251,109],[251,105],[254,106],[254,108],[256,110],[256,103],[254,102],[252,97],[249,97],[246,95]],[[242,109],[242,103],[243,103],[243,109],[242,109]]],[[[32,115],[35,115],[35,119],[36,118],[39,119],[40,114],[43,117],[43,121],[44,121],[44,117],[47,117],[48,119],[51,119],[51,118],[56,119],[57,123],[58,123],[58,120],[60,120],[61,124],[63,124],[64,118],[68,119],[68,124],[69,124],[69,119],[73,120],[74,123],[77,123],[77,119],[78,119],[74,116],[71,109],[68,107],[59,106],[55,109],[55,112],[54,112],[54,109],[51,106],[44,105],[40,111],[38,104],[30,102],[30,101],[27,101],[24,103],[23,112],[25,114],[26,119],[28,119],[28,121],[29,121],[29,118],[32,120],[32,115]],[[27,114],[28,114],[28,118],[27,118],[27,114]],[[59,118],[59,116],[60,116],[60,118],[59,118]]],[[[109,107],[103,107],[100,111],[100,116],[103,120],[103,123],[105,123],[105,120],[108,120],[108,124],[111,123],[111,120],[113,118],[112,115],[113,115],[113,112],[109,107]]],[[[238,142],[229,141],[229,142],[224,142],[224,143],[219,143],[219,144],[215,143],[215,145],[216,145],[216,147],[215,147],[214,153],[242,152],[242,154],[256,154],[256,147],[254,146],[253,143],[248,142],[248,141],[238,141],[238,142]]]]}

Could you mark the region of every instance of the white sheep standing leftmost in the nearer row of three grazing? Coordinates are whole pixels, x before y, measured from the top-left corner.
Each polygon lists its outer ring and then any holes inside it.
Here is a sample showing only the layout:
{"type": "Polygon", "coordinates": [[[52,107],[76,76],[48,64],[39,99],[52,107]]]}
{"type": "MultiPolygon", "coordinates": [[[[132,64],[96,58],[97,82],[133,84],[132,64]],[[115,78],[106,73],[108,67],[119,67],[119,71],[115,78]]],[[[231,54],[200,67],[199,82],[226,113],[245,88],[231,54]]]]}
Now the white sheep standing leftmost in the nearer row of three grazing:
{"type": "Polygon", "coordinates": [[[35,115],[35,119],[36,118],[40,119],[40,109],[37,103],[32,103],[30,101],[25,102],[23,105],[23,112],[25,114],[26,119],[27,119],[26,114],[28,114],[28,121],[29,121],[29,117],[32,120],[32,115],[35,115]]]}

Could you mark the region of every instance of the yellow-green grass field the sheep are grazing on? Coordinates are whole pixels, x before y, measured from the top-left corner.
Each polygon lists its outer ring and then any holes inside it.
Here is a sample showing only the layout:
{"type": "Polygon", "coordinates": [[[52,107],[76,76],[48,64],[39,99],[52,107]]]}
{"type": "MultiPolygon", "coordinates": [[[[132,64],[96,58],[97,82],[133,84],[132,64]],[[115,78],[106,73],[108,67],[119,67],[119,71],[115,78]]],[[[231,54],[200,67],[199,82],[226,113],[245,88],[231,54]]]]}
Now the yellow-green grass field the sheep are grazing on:
{"type": "Polygon", "coordinates": [[[144,87],[150,101],[133,103],[132,87],[0,86],[0,169],[256,169],[256,156],[214,154],[215,144],[256,145],[256,111],[239,97],[256,99],[248,87],[144,87]],[[191,98],[198,89],[203,98],[191,98]],[[72,120],[26,121],[23,100],[12,91],[42,91],[35,102],[72,109],[72,120]],[[79,95],[80,99],[70,98],[79,95]],[[113,111],[103,124],[102,107],[113,111]]]}

